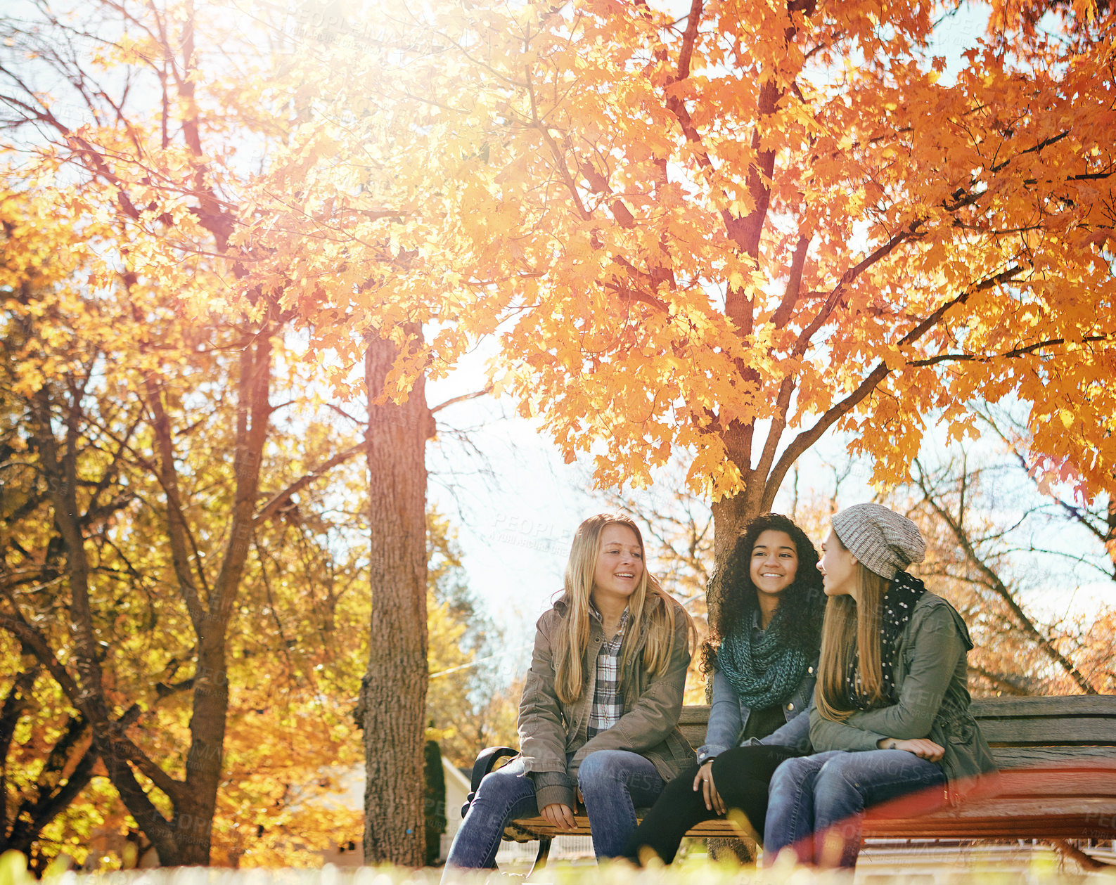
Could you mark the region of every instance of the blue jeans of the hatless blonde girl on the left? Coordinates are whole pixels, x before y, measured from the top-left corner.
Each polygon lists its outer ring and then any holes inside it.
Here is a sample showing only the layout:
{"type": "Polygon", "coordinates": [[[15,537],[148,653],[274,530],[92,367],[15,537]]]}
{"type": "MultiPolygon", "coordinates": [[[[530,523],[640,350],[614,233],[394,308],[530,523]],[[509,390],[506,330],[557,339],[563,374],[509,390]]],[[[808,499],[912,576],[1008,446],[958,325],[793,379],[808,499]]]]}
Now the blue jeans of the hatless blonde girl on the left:
{"type": "MultiPolygon", "coordinates": [[[[627,750],[589,753],[577,777],[585,810],[593,828],[593,850],[597,857],[617,857],[635,831],[635,805],[651,805],[663,789],[655,767],[627,750]]],[[[516,758],[487,775],[477,788],[469,814],[453,837],[445,868],[492,869],[500,837],[509,820],[539,814],[535,783],[523,773],[523,760],[516,758]]]]}

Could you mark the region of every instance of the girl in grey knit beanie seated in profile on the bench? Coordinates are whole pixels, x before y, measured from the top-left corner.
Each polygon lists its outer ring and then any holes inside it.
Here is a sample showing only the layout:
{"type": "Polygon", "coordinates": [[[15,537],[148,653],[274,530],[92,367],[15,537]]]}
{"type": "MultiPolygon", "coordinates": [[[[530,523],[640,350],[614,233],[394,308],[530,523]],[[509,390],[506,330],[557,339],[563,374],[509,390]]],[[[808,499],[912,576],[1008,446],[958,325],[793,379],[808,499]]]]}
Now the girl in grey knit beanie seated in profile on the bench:
{"type": "Polygon", "coordinates": [[[764,849],[853,867],[865,808],[918,791],[939,805],[995,766],[969,710],[969,631],[905,571],[925,556],[914,522],[856,504],[833,518],[821,550],[829,602],[810,710],[815,754],[776,770],[764,849]]]}

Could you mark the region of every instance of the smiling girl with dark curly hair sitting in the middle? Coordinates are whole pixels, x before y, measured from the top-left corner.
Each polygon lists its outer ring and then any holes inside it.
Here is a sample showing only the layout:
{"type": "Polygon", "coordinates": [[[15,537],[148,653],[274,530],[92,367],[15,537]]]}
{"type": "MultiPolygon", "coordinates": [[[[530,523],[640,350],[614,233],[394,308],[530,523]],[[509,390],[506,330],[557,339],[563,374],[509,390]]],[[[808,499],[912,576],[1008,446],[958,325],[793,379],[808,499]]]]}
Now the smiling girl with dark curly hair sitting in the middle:
{"type": "Polygon", "coordinates": [[[687,829],[729,809],[762,828],[772,772],[809,750],[801,714],[814,694],[825,612],[817,562],[806,533],[779,513],[757,517],[737,539],[702,650],[713,681],[705,743],[643,819],[629,859],[654,852],[670,863],[687,829]]]}

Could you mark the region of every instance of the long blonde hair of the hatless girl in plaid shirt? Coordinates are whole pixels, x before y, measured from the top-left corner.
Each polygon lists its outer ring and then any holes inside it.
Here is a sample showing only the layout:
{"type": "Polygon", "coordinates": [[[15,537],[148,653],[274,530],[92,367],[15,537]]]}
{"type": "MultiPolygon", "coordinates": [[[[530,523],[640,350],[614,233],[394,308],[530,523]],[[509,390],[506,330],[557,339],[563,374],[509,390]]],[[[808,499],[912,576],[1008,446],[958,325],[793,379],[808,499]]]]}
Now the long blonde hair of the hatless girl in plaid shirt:
{"type": "MultiPolygon", "coordinates": [[[[584,689],[585,652],[589,647],[589,596],[593,593],[593,575],[600,551],[600,532],[607,526],[625,526],[635,532],[639,541],[639,552],[644,554],[643,533],[635,520],[624,513],[597,513],[589,517],[574,535],[566,562],[566,617],[562,618],[555,643],[555,693],[562,703],[574,703],[584,689]]],[[[644,618],[647,618],[647,642],[643,648],[643,666],[661,676],[666,672],[674,653],[675,613],[693,622],[685,609],[672,604],[658,580],[647,571],[646,556],[635,593],[628,600],[628,625],[620,646],[619,673],[622,693],[626,687],[624,676],[632,657],[632,650],[639,637],[644,618]],[[658,597],[656,599],[656,597],[658,597]],[[656,604],[657,603],[657,604],[656,604]]]]}

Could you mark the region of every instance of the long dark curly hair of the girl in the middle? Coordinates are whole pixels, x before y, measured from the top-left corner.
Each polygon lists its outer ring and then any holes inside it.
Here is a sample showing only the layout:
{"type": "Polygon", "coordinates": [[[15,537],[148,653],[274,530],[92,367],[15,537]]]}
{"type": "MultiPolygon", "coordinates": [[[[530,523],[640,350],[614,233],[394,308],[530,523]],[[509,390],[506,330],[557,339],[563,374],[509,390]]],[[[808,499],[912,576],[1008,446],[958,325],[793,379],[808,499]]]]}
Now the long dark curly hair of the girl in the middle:
{"type": "Polygon", "coordinates": [[[818,551],[806,532],[782,513],[761,513],[744,527],[737,538],[732,552],[725,559],[721,574],[714,574],[711,584],[720,584],[721,598],[716,614],[710,622],[709,636],[702,646],[701,670],[706,675],[716,668],[716,652],[721,641],[741,623],[750,623],[752,612],[759,607],[756,586],[751,577],[752,548],[768,529],[785,531],[795,542],[798,568],[795,580],[779,596],[779,608],[768,629],[776,631],[780,643],[797,645],[812,658],[821,644],[821,621],[826,597],[821,591],[818,571],[818,551]]]}

